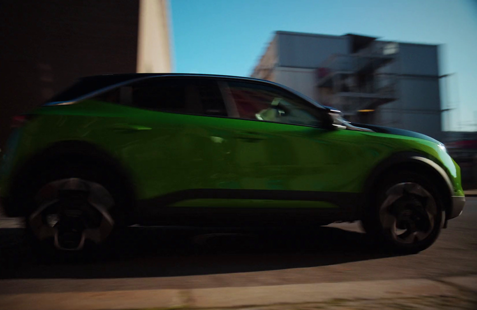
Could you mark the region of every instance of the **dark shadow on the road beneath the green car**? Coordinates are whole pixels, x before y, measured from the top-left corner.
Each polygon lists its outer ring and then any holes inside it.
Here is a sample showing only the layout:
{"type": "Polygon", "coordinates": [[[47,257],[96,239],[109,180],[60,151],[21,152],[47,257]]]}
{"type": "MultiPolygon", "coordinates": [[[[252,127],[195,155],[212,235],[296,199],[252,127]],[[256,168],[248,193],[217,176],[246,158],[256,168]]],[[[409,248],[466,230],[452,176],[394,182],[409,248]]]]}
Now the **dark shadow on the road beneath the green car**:
{"type": "Polygon", "coordinates": [[[171,277],[339,264],[391,256],[365,234],[314,230],[131,227],[86,255],[32,250],[22,229],[0,229],[0,278],[171,277]],[[72,255],[70,255],[72,254],[72,255]]]}

